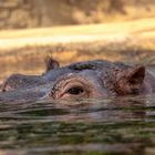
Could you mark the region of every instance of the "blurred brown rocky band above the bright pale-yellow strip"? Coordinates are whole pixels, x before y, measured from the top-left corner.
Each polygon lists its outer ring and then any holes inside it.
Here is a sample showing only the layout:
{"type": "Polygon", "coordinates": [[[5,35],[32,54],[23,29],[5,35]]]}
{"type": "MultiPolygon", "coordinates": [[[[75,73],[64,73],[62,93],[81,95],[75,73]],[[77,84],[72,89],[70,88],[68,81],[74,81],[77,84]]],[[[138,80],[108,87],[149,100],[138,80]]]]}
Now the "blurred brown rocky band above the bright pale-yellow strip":
{"type": "Polygon", "coordinates": [[[153,18],[154,0],[0,0],[0,29],[153,18]]]}

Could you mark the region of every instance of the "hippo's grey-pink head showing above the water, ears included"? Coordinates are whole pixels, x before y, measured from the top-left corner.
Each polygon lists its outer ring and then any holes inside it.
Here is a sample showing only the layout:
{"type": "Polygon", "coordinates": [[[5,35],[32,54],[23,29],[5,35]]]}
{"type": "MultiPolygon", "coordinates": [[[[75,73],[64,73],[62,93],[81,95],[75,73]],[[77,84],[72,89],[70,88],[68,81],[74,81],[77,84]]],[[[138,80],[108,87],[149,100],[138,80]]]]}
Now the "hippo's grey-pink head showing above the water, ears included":
{"type": "Polygon", "coordinates": [[[49,58],[42,75],[11,75],[1,86],[0,100],[79,100],[149,94],[155,92],[154,80],[145,66],[95,60],[60,68],[49,58]]]}

